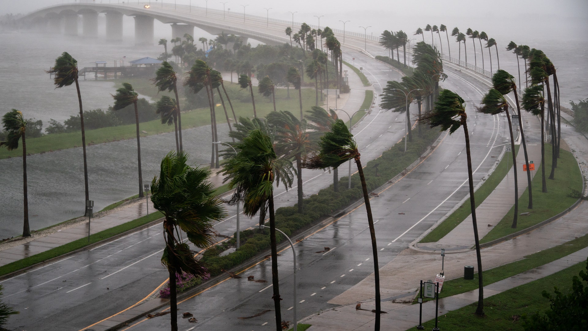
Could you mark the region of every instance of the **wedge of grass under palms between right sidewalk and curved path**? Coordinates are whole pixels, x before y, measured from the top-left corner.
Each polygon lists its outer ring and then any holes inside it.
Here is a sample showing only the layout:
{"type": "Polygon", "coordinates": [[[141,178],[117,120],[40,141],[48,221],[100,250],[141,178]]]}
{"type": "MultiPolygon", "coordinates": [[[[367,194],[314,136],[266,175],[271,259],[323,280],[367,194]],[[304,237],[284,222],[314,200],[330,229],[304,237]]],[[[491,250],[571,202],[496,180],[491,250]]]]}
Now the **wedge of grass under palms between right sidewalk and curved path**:
{"type": "MultiPolygon", "coordinates": [[[[552,165],[551,145],[545,145],[545,172],[549,177],[552,165]]],[[[574,197],[573,191],[582,191],[582,173],[580,167],[569,151],[560,150],[560,158],[557,160],[557,168],[553,180],[547,181],[547,193],[542,192],[541,168],[537,168],[537,174],[533,177],[533,209],[527,209],[529,204],[528,188],[519,198],[519,213],[530,213],[529,216],[520,216],[517,220],[516,229],[512,229],[512,220],[515,215],[515,206],[503,217],[496,226],[490,230],[480,243],[487,243],[495,239],[502,238],[509,234],[515,233],[527,227],[534,226],[550,217],[556,216],[562,211],[572,206],[578,197],[574,197]]]]}

